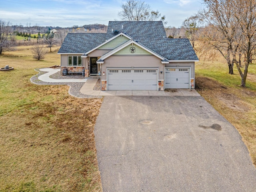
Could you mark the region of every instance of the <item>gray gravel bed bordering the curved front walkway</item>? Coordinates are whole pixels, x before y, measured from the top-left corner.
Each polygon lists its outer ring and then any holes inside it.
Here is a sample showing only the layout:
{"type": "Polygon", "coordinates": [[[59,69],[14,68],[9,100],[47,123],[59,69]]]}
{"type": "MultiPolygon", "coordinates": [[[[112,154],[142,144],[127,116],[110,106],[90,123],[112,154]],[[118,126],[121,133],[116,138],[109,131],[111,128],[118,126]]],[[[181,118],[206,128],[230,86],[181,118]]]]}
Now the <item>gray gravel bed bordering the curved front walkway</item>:
{"type": "MultiPolygon", "coordinates": [[[[35,71],[38,72],[38,74],[32,76],[30,78],[30,81],[34,84],[37,85],[68,85],[70,86],[68,93],[71,96],[77,97],[77,98],[102,98],[102,96],[92,96],[92,95],[86,95],[86,94],[82,94],[80,92],[80,89],[82,88],[82,86],[84,85],[84,82],[44,82],[38,79],[38,77],[42,74],[46,74],[48,72],[43,72],[40,71],[40,69],[42,68],[36,68],[35,71]]],[[[53,79],[81,79],[84,78],[83,76],[79,76],[79,75],[69,75],[69,76],[62,76],[60,74],[60,72],[54,73],[50,76],[50,78],[53,79]]],[[[94,88],[95,89],[95,88],[94,88]]],[[[96,88],[97,89],[97,88],[96,88]]]]}

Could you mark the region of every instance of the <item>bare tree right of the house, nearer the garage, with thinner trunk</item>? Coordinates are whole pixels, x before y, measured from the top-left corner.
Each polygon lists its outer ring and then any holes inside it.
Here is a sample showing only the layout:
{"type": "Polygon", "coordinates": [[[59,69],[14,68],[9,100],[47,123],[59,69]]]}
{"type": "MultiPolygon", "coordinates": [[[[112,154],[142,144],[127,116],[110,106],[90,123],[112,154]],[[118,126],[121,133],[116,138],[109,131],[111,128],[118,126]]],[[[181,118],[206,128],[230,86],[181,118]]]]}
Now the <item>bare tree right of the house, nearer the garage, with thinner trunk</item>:
{"type": "Polygon", "coordinates": [[[232,2],[232,0],[205,0],[206,7],[200,14],[208,25],[201,40],[206,40],[226,59],[229,74],[233,74],[232,56],[236,54],[238,48],[235,41],[237,22],[230,11],[232,2]]]}

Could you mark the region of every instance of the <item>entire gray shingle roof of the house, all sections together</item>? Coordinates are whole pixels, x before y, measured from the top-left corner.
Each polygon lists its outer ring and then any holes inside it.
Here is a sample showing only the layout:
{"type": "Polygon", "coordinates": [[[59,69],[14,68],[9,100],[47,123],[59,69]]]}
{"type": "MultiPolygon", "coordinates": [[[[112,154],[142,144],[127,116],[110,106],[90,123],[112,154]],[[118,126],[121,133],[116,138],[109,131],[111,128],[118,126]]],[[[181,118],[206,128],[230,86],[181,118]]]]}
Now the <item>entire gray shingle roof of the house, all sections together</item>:
{"type": "Polygon", "coordinates": [[[86,53],[120,32],[168,60],[198,60],[188,39],[166,38],[161,21],[110,21],[107,33],[68,33],[58,53],[86,53]]]}

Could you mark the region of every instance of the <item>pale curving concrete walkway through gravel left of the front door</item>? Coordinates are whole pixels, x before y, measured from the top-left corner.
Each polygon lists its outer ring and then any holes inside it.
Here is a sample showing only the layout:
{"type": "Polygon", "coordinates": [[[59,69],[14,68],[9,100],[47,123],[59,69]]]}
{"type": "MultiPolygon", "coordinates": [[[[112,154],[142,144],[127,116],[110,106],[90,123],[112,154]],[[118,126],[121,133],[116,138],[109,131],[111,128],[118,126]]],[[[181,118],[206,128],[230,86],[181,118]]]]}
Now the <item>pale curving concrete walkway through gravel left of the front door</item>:
{"type": "Polygon", "coordinates": [[[44,68],[44,69],[40,69],[40,71],[48,72],[38,77],[39,80],[44,82],[61,83],[61,82],[86,82],[87,81],[87,79],[52,79],[49,77],[56,72],[60,72],[60,69],[44,68]]]}

